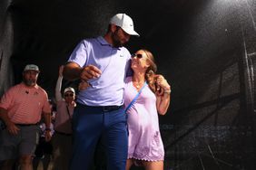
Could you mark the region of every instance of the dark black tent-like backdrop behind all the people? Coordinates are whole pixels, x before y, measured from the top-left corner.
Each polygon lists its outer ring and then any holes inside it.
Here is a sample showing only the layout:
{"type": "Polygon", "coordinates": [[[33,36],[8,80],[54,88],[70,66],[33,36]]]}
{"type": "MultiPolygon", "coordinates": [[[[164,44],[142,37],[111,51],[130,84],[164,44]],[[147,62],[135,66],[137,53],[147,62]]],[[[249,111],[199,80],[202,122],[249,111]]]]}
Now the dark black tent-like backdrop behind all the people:
{"type": "Polygon", "coordinates": [[[58,67],[116,13],[141,34],[127,48],[152,51],[172,84],[160,117],[165,169],[255,169],[255,0],[2,0],[0,94],[35,63],[54,98],[58,67]]]}

